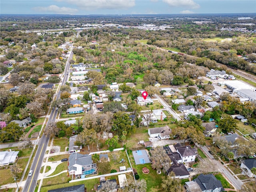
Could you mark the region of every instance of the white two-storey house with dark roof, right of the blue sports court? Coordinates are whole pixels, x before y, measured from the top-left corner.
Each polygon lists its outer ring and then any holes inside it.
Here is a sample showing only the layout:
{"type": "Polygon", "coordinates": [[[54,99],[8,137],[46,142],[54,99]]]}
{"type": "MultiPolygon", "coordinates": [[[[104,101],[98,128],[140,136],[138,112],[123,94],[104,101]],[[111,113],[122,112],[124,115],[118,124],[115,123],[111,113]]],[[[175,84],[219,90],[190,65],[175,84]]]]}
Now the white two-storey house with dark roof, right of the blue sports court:
{"type": "Polygon", "coordinates": [[[196,149],[191,148],[190,145],[188,146],[180,146],[180,144],[174,145],[177,152],[180,154],[180,157],[182,159],[182,163],[188,163],[188,162],[195,162],[196,159],[196,149]]]}

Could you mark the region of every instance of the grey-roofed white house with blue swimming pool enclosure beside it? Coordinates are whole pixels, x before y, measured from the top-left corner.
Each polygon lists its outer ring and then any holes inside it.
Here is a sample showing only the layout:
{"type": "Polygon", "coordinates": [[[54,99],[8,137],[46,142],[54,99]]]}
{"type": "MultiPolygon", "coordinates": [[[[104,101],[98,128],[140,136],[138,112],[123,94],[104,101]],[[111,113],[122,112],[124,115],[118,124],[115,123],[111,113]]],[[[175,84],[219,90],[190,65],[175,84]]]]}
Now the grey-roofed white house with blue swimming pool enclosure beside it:
{"type": "Polygon", "coordinates": [[[97,165],[92,162],[92,156],[87,154],[72,153],[68,158],[68,173],[76,178],[97,174],[97,165]]]}

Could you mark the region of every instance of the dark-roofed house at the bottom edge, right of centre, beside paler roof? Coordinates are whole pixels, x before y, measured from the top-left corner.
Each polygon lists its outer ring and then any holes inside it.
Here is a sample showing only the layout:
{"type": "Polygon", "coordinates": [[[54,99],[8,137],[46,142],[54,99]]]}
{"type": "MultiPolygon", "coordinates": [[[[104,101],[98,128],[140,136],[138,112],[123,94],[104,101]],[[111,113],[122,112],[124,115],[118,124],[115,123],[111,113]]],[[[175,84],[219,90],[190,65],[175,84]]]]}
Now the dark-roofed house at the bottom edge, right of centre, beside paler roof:
{"type": "Polygon", "coordinates": [[[196,179],[185,182],[185,186],[190,191],[197,192],[222,192],[224,188],[219,180],[213,174],[200,174],[196,179]]]}

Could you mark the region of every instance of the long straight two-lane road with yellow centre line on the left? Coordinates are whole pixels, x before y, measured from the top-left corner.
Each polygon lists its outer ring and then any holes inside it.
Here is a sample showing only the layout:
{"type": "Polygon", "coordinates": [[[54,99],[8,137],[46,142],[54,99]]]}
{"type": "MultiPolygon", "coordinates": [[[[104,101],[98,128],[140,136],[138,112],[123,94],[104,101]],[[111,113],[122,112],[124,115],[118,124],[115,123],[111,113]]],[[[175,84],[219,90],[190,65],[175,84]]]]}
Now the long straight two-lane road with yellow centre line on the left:
{"type": "MultiPolygon", "coordinates": [[[[70,59],[72,58],[73,56],[73,53],[72,53],[72,50],[73,50],[73,46],[71,46],[71,53],[70,53],[70,56],[66,62],[66,66],[65,66],[65,70],[64,70],[64,74],[63,74],[63,78],[62,78],[62,82],[61,82],[61,86],[64,85],[66,83],[66,81],[68,80],[68,71],[69,71],[69,68],[70,68],[70,59]]],[[[60,86],[58,86],[57,88],[57,93],[56,93],[56,100],[58,100],[60,98],[60,86]]],[[[50,118],[48,120],[48,123],[46,126],[48,126],[49,122],[55,122],[56,120],[56,116],[58,114],[58,111],[53,108],[51,113],[50,113],[50,118]]],[[[39,142],[38,142],[38,150],[36,151],[36,156],[34,158],[34,161],[32,163],[32,166],[30,168],[30,170],[33,170],[33,174],[32,176],[28,176],[27,180],[26,180],[26,184],[23,188],[23,192],[34,192],[35,190],[35,187],[36,187],[36,183],[37,183],[37,180],[38,180],[38,175],[40,173],[40,169],[41,169],[41,166],[42,166],[42,162],[43,162],[43,159],[44,159],[44,154],[46,152],[46,148],[48,146],[48,142],[49,142],[49,139],[48,137],[46,137],[44,134],[43,136],[40,138],[39,142]]]]}

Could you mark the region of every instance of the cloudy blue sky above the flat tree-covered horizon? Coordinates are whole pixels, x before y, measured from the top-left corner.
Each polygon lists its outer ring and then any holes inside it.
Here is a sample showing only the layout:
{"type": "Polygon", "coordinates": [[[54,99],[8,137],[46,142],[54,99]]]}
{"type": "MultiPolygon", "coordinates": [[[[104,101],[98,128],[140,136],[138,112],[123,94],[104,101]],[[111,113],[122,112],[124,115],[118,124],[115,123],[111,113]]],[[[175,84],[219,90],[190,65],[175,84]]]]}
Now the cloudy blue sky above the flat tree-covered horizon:
{"type": "Polygon", "coordinates": [[[256,13],[256,0],[1,0],[1,14],[256,13]]]}

